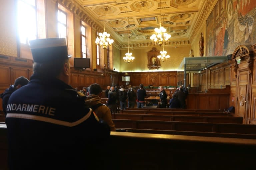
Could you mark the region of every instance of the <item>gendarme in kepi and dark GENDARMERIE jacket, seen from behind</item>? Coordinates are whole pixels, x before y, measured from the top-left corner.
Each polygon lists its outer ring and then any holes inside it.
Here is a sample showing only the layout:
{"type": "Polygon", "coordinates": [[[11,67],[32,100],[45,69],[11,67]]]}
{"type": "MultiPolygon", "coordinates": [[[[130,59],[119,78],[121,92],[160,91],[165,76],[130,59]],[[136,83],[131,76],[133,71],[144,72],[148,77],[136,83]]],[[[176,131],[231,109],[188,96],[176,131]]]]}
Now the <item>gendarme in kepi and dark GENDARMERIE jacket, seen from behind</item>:
{"type": "Polygon", "coordinates": [[[108,152],[99,146],[107,143],[110,128],[68,85],[66,39],[29,43],[33,75],[12,93],[6,109],[9,170],[106,168],[109,160],[101,154],[108,152]]]}

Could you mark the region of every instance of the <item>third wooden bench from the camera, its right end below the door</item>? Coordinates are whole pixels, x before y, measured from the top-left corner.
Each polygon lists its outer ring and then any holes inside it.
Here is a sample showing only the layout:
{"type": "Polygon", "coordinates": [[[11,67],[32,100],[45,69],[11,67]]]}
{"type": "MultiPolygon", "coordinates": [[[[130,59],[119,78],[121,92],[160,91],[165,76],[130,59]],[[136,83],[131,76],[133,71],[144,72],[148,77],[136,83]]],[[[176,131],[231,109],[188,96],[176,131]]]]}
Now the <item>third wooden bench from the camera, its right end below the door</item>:
{"type": "Polygon", "coordinates": [[[243,123],[243,117],[224,116],[187,116],[187,115],[151,115],[151,114],[115,114],[112,119],[162,120],[186,122],[243,123]]]}

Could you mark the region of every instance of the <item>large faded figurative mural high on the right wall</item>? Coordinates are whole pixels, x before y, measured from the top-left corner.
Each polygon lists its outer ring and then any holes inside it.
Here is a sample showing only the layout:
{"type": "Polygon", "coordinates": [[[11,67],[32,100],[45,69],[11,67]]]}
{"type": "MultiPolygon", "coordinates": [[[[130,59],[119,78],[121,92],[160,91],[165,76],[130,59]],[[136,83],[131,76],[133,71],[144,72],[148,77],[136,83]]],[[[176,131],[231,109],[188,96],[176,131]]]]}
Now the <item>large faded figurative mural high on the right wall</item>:
{"type": "Polygon", "coordinates": [[[206,55],[232,54],[256,43],[255,0],[219,0],[206,20],[206,55]]]}

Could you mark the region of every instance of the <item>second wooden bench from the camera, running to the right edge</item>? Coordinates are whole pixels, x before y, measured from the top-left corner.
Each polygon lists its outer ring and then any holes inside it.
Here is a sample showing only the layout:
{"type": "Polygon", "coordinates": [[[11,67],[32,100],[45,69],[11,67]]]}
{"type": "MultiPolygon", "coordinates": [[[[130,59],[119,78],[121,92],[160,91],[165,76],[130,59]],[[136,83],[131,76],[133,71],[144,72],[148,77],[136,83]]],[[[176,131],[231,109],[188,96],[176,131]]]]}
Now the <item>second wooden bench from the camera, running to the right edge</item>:
{"type": "Polygon", "coordinates": [[[256,134],[256,125],[235,123],[204,123],[155,120],[112,119],[116,128],[177,130],[216,133],[256,134]]]}

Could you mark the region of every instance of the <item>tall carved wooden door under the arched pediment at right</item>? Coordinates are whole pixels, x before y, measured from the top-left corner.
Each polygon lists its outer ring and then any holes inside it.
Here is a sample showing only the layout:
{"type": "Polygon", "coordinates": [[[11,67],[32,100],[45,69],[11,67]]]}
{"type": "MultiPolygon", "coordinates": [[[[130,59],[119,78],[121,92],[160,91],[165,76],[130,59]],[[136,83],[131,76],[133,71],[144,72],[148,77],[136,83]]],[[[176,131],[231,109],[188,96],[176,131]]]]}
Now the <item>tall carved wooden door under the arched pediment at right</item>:
{"type": "Polygon", "coordinates": [[[243,123],[247,124],[248,118],[248,82],[249,74],[248,69],[238,70],[238,88],[237,88],[237,109],[235,114],[243,117],[243,123]]]}

